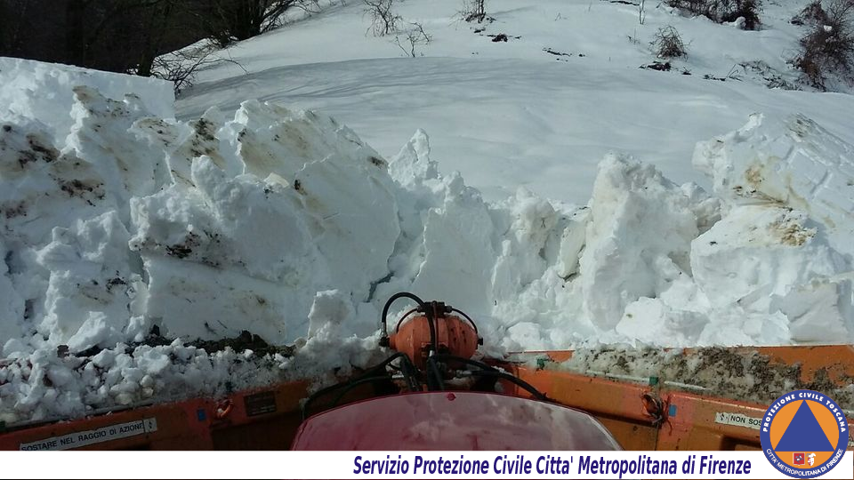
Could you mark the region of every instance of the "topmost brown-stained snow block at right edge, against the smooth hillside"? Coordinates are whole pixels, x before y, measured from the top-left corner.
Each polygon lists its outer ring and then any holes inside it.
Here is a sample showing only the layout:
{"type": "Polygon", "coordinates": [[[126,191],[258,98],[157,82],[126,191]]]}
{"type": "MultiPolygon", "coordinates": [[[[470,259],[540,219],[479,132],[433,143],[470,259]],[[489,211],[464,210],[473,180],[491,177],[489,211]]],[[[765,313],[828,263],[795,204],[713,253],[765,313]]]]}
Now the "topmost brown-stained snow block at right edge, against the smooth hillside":
{"type": "Polygon", "coordinates": [[[729,204],[806,212],[835,250],[854,256],[854,147],[810,119],[753,115],[736,132],[697,143],[693,162],[729,204]]]}

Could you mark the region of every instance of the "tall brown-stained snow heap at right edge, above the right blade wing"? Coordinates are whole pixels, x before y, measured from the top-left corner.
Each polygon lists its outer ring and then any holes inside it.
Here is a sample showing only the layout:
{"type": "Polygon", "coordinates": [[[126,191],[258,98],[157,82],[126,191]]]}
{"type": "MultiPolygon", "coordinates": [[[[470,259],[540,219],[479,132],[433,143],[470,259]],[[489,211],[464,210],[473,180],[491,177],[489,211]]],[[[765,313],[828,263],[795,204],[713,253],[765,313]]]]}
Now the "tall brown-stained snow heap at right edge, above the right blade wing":
{"type": "Polygon", "coordinates": [[[850,342],[854,148],[803,116],[757,115],[698,143],[694,164],[725,205],[723,220],[692,242],[691,268],[711,306],[737,305],[754,326],[775,318],[764,324],[780,342],[850,342]]]}

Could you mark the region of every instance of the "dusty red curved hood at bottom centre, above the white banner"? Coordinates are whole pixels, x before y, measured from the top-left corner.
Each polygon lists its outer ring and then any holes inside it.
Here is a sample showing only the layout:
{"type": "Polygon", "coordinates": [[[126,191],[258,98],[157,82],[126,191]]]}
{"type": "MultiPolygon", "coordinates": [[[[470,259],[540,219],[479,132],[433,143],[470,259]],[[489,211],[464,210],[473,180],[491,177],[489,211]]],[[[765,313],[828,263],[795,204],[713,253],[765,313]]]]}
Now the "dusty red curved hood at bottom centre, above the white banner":
{"type": "Polygon", "coordinates": [[[622,450],[591,415],[480,392],[383,396],[318,413],[293,450],[622,450]],[[391,419],[391,421],[390,421],[391,419]]]}

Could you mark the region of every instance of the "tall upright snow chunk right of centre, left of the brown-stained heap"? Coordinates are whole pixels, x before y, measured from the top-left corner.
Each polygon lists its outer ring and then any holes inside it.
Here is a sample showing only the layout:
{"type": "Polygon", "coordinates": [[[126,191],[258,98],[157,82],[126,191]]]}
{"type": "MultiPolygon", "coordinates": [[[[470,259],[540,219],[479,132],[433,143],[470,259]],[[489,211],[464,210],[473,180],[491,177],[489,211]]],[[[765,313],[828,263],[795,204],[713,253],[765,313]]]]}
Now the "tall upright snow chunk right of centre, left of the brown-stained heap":
{"type": "Polygon", "coordinates": [[[696,236],[690,198],[655,167],[618,156],[603,160],[579,262],[585,313],[600,328],[616,326],[630,302],[657,297],[690,274],[696,236]]]}

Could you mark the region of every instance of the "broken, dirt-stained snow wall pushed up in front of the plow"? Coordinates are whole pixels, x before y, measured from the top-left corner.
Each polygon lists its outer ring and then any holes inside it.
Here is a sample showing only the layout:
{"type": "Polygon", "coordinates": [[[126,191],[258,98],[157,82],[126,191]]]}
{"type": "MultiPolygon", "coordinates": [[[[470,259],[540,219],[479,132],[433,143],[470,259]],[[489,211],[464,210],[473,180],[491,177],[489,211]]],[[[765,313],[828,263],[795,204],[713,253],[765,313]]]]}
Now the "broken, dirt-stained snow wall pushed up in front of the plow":
{"type": "Polygon", "coordinates": [[[608,156],[588,205],[495,204],[421,131],[386,160],[310,111],[179,122],[156,82],[114,100],[101,74],[14,68],[30,86],[0,110],[0,420],[364,364],[400,290],[467,311],[493,352],[854,340],[854,149],[800,116],[698,144],[714,196],[608,156]],[[73,105],[34,100],[50,95],[73,105]],[[154,327],[176,340],[140,345],[154,327]],[[184,345],[244,330],[294,356],[184,345]]]}

